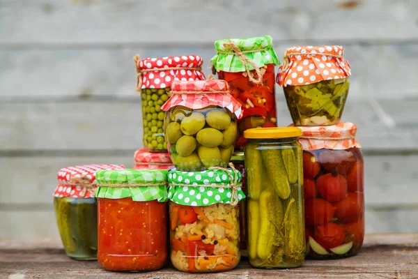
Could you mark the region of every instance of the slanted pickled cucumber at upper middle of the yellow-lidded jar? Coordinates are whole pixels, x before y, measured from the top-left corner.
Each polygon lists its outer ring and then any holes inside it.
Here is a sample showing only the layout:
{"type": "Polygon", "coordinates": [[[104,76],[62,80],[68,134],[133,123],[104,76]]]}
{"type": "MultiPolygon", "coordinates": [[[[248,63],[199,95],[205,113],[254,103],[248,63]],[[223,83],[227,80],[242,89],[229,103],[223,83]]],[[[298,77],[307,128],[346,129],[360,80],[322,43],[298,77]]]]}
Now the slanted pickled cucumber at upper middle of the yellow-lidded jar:
{"type": "Polygon", "coordinates": [[[287,199],[291,195],[291,186],[281,159],[280,149],[263,149],[261,150],[261,157],[277,195],[281,199],[287,199]]]}

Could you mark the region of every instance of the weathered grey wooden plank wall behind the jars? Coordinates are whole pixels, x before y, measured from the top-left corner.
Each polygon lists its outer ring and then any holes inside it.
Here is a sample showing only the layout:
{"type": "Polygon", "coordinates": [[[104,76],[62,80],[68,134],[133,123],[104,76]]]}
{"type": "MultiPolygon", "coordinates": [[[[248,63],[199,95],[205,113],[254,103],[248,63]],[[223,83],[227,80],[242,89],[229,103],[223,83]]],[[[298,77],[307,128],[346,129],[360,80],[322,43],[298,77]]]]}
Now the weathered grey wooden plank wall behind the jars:
{"type": "MultiPolygon", "coordinates": [[[[134,54],[200,54],[207,66],[214,40],[264,34],[280,57],[292,45],[346,47],[343,120],[363,144],[366,230],[417,232],[417,0],[0,0],[0,236],[57,235],[61,167],[132,167],[134,54]]],[[[287,126],[279,87],[277,108],[287,126]]]]}

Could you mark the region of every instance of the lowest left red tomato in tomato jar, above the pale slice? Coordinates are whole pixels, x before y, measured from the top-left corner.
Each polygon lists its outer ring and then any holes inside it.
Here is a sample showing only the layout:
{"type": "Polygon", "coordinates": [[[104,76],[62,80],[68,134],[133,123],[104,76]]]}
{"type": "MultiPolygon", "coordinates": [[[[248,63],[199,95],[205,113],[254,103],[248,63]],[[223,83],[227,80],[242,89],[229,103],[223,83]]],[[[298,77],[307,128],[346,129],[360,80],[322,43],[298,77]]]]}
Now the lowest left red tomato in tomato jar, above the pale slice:
{"type": "Polygon", "coordinates": [[[334,223],[327,223],[315,229],[315,240],[325,249],[340,246],[344,243],[344,239],[346,239],[346,235],[343,229],[334,223]]]}

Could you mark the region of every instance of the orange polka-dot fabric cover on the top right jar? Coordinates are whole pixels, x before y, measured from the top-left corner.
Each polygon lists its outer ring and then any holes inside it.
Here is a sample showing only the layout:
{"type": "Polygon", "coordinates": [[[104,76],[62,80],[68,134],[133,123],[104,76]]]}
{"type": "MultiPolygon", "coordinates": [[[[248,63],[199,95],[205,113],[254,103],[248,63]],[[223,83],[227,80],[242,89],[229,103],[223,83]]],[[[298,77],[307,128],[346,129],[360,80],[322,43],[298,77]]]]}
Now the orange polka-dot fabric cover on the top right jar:
{"type": "Polygon", "coordinates": [[[343,54],[341,45],[291,47],[284,54],[276,82],[286,87],[348,77],[351,68],[348,61],[343,59],[343,54]]]}

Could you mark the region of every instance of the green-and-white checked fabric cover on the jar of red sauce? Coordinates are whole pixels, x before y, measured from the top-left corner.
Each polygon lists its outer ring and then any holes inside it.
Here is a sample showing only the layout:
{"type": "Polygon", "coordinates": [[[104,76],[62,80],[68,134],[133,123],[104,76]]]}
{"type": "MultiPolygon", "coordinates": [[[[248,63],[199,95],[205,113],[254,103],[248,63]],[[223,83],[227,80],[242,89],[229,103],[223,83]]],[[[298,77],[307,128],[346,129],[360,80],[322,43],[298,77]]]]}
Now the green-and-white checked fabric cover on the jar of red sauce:
{"type": "Polygon", "coordinates": [[[98,181],[96,197],[105,199],[132,197],[135,202],[148,202],[154,199],[158,202],[167,201],[167,170],[99,169],[96,172],[96,179],[98,181]]]}

